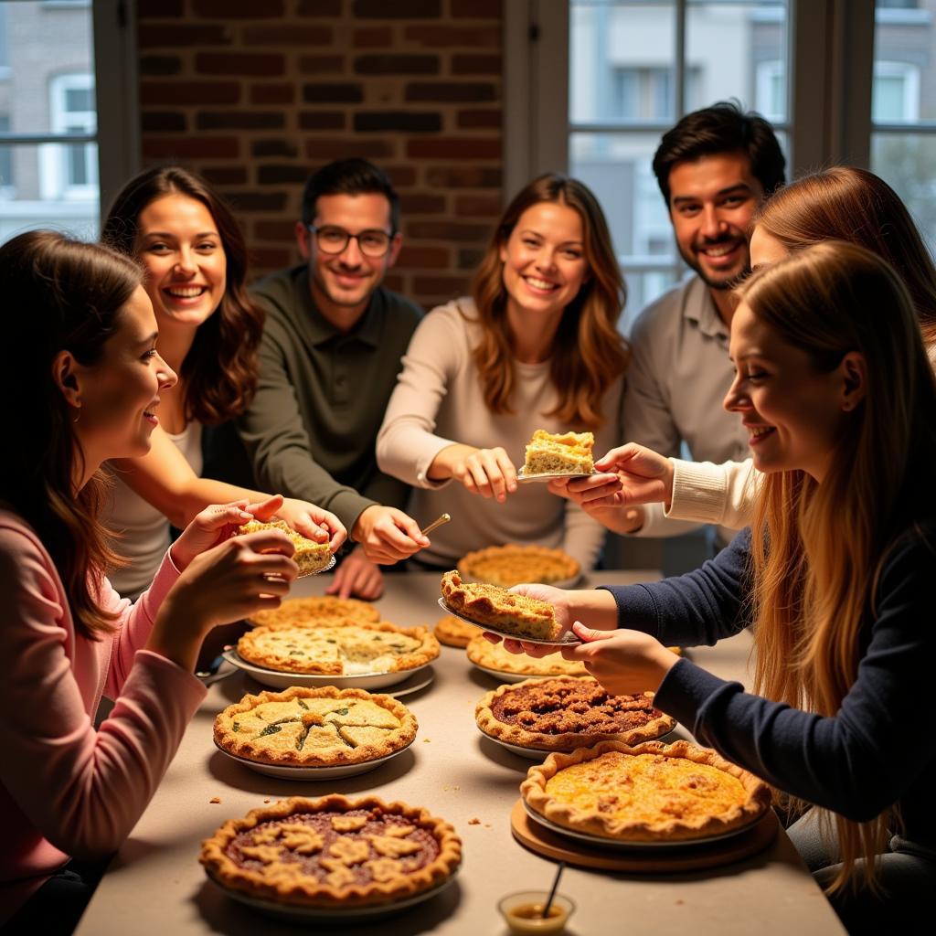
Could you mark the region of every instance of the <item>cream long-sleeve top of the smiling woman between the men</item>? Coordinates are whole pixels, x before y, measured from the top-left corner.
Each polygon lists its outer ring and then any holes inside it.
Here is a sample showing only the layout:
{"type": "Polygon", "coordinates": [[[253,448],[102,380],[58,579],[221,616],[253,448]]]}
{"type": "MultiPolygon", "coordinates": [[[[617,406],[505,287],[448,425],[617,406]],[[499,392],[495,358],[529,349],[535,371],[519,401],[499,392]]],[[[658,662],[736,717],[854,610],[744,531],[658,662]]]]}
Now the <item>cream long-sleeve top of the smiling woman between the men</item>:
{"type": "MultiPolygon", "coordinates": [[[[519,468],[534,430],[573,428],[544,415],[559,401],[548,360],[515,361],[513,413],[490,412],[472,358],[480,328],[470,299],[440,306],[419,324],[377,436],[380,470],[417,489],[410,513],[420,525],[442,513],[452,515],[450,523],[430,535],[431,547],[419,554],[426,562],[454,567],[472,549],[530,543],[563,548],[582,568],[590,569],[604,542],[604,528],[578,505],[550,494],[545,484],[520,484],[501,504],[469,493],[458,482],[428,477],[432,461],[446,446],[501,446],[519,468]]],[[[622,382],[617,378],[605,395],[605,422],[595,432],[596,452],[607,451],[621,438],[622,382]]]]}

